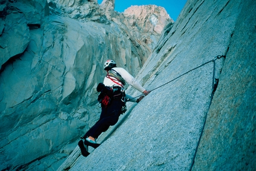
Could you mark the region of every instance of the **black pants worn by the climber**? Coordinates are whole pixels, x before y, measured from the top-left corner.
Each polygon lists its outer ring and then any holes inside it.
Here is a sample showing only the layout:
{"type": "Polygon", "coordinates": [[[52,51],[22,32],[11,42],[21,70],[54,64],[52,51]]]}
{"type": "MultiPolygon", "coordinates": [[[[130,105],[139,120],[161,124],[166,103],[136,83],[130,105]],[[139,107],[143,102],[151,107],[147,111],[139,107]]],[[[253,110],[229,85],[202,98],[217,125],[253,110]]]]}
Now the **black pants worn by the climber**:
{"type": "Polygon", "coordinates": [[[96,124],[93,125],[88,132],[86,132],[83,139],[90,136],[93,138],[98,138],[99,135],[101,135],[102,132],[107,131],[110,126],[117,124],[122,106],[123,102],[121,102],[120,99],[113,99],[111,104],[107,107],[102,106],[99,121],[97,121],[96,124]]]}

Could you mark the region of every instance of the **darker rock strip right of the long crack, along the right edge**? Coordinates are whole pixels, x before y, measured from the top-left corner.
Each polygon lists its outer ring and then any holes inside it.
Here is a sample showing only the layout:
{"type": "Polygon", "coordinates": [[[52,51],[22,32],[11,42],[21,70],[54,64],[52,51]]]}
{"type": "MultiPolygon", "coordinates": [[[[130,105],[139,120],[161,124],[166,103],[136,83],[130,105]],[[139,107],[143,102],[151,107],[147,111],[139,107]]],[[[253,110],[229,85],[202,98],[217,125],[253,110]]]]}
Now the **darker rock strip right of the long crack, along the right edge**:
{"type": "Polygon", "coordinates": [[[192,170],[256,168],[256,13],[242,3],[192,170]]]}

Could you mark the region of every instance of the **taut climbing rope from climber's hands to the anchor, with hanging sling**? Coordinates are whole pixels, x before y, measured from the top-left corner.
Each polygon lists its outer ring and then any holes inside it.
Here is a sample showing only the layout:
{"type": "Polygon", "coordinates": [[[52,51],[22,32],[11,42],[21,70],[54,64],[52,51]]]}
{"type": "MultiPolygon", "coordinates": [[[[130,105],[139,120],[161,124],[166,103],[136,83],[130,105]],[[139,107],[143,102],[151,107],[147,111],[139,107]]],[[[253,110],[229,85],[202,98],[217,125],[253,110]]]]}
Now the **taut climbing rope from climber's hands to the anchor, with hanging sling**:
{"type": "MultiPolygon", "coordinates": [[[[195,68],[193,68],[193,69],[191,69],[191,70],[185,72],[184,74],[179,75],[178,77],[174,78],[173,80],[170,80],[170,81],[168,81],[167,83],[164,83],[164,84],[160,85],[159,87],[156,87],[156,88],[154,88],[154,89],[152,89],[152,90],[150,90],[150,91],[157,90],[158,88],[163,87],[164,85],[169,84],[169,83],[171,83],[172,81],[177,80],[178,78],[182,77],[183,75],[186,75],[186,74],[188,74],[189,72],[191,72],[191,71],[193,71],[193,70],[195,70],[195,69],[201,68],[202,66],[204,66],[204,65],[206,65],[206,64],[209,64],[210,62],[213,62],[213,65],[214,65],[214,66],[213,66],[213,87],[212,87],[213,90],[214,90],[214,86],[217,84],[217,81],[218,81],[217,79],[214,78],[214,76],[215,76],[215,65],[216,65],[215,61],[216,61],[217,59],[220,59],[220,58],[226,58],[226,56],[224,56],[224,55],[218,55],[218,56],[214,57],[211,61],[205,62],[204,64],[199,65],[199,66],[197,66],[197,67],[195,67],[195,68]]],[[[137,97],[141,97],[141,96],[144,96],[144,94],[141,94],[141,95],[139,95],[139,96],[133,97],[133,99],[135,99],[135,98],[137,98],[137,97]]],[[[213,93],[212,93],[212,96],[213,96],[213,93]]],[[[131,100],[131,99],[130,99],[130,100],[131,100]]]]}

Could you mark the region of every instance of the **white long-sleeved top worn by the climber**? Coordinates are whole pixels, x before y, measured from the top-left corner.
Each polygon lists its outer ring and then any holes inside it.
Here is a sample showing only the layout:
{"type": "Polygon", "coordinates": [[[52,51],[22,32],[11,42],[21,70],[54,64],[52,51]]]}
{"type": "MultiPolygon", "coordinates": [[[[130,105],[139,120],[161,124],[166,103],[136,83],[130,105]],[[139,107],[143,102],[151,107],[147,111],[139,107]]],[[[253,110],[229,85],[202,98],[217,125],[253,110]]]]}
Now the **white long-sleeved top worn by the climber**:
{"type": "MultiPolygon", "coordinates": [[[[132,75],[130,75],[129,72],[126,71],[126,69],[120,68],[120,67],[114,67],[113,69],[117,71],[118,74],[121,75],[121,77],[124,79],[124,81],[126,81],[126,83],[128,83],[129,85],[132,85],[133,88],[140,91],[141,93],[145,91],[145,88],[143,88],[141,84],[139,84],[139,82],[132,75]]],[[[111,78],[113,78],[113,80],[116,80],[114,77],[111,77],[111,78]]],[[[122,84],[120,81],[115,81],[115,82],[117,82],[118,84],[122,84]]],[[[112,81],[110,78],[107,78],[107,77],[104,78],[103,84],[109,87],[113,87],[113,86],[121,87],[120,85],[114,83],[114,81],[112,81]]],[[[137,100],[137,99],[133,99],[133,97],[129,96],[128,94],[126,95],[126,99],[132,99],[130,100],[130,102],[136,102],[137,100]]]]}

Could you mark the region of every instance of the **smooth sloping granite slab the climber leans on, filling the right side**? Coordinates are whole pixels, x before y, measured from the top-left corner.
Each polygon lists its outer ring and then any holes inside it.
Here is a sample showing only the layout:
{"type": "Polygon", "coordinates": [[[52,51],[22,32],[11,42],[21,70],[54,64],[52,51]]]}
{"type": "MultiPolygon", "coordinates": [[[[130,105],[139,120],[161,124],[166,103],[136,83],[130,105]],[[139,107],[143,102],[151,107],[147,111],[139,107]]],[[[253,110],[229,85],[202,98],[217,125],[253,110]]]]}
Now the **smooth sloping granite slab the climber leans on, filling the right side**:
{"type": "Polygon", "coordinates": [[[138,74],[154,91],[88,157],[76,148],[59,169],[255,170],[254,9],[253,1],[188,1],[138,74]]]}

